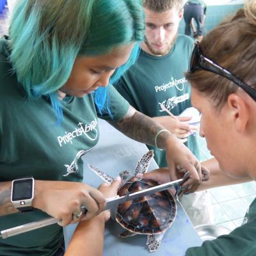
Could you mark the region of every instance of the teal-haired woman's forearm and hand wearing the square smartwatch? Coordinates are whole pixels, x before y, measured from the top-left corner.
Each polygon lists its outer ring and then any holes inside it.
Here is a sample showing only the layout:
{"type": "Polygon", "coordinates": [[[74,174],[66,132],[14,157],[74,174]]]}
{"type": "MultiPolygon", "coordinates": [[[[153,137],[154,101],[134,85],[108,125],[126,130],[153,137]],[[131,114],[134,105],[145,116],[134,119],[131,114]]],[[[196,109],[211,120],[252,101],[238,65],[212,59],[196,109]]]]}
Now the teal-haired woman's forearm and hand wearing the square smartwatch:
{"type": "MultiPolygon", "coordinates": [[[[0,216],[17,211],[11,202],[12,182],[0,182],[0,216]]],[[[40,209],[60,220],[59,225],[66,226],[81,218],[74,218],[84,205],[88,212],[84,219],[90,219],[103,211],[105,198],[95,188],[81,182],[35,180],[32,207],[40,209]]]]}

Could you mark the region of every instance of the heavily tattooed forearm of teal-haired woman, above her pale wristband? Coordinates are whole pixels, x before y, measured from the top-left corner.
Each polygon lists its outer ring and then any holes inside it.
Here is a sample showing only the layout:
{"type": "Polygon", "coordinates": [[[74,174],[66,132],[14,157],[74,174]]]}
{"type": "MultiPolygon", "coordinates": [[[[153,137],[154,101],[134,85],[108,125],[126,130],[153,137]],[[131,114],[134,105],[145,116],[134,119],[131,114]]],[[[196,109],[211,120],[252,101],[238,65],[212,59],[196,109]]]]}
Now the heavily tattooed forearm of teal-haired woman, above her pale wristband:
{"type": "MultiPolygon", "coordinates": [[[[161,124],[138,111],[135,111],[135,113],[134,111],[128,111],[122,120],[109,123],[129,138],[152,146],[155,145],[157,132],[164,129],[161,124]]],[[[159,134],[157,138],[157,146],[159,148],[164,148],[164,142],[168,136],[172,136],[171,133],[162,132],[159,134]]]]}

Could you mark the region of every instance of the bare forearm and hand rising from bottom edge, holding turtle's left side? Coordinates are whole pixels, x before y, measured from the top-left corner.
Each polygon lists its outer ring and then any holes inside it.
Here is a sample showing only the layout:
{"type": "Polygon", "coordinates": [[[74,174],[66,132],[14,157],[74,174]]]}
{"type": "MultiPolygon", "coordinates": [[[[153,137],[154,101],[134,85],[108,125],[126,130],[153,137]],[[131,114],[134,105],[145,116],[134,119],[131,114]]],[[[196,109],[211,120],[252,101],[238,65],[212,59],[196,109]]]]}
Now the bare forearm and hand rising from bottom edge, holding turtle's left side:
{"type": "MultiPolygon", "coordinates": [[[[115,196],[120,182],[118,177],[112,184],[101,184],[99,190],[106,198],[115,196]]],[[[110,212],[104,211],[92,220],[80,221],[68,244],[65,256],[102,256],[105,222],[109,217],[110,212]]]]}

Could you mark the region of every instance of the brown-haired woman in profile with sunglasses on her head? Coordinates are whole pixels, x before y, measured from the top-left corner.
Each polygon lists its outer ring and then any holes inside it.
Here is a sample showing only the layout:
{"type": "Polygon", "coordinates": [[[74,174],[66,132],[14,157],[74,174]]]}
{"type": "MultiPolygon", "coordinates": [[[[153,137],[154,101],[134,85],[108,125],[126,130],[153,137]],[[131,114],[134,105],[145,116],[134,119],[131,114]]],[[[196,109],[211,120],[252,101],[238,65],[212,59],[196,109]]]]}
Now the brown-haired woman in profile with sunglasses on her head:
{"type": "MultiPolygon", "coordinates": [[[[210,179],[186,192],[256,180],[255,0],[246,1],[244,10],[237,11],[205,35],[200,44],[196,43],[186,77],[192,86],[192,104],[202,113],[200,135],[215,157],[202,164],[203,174],[204,167],[211,171],[210,179]]],[[[166,169],[143,177],[163,183],[170,180],[166,169]]],[[[78,230],[86,232],[88,226],[78,230]]],[[[81,234],[76,238],[83,241],[81,234]]],[[[186,256],[229,255],[256,255],[256,198],[241,227],[186,252],[186,256]]]]}

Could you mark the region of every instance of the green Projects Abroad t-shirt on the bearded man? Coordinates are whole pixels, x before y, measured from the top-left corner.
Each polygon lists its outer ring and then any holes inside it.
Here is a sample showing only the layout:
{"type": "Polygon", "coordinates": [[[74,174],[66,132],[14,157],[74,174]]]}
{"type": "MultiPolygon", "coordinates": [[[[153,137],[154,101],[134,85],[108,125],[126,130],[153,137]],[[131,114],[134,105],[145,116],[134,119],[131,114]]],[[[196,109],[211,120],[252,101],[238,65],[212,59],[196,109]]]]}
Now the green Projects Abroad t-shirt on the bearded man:
{"type": "MultiPolygon", "coordinates": [[[[159,103],[164,104],[173,115],[180,115],[184,109],[191,107],[191,88],[184,72],[188,70],[193,45],[191,38],[179,35],[165,56],[153,56],[141,50],[137,63],[115,84],[116,90],[134,108],[150,117],[168,115],[159,103]]],[[[194,136],[189,136],[186,145],[199,157],[194,136]]],[[[151,146],[148,148],[154,149],[160,167],[167,166],[165,151],[151,146]]]]}

